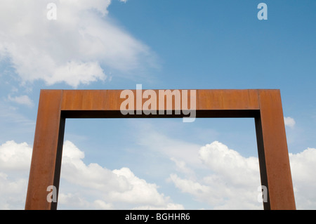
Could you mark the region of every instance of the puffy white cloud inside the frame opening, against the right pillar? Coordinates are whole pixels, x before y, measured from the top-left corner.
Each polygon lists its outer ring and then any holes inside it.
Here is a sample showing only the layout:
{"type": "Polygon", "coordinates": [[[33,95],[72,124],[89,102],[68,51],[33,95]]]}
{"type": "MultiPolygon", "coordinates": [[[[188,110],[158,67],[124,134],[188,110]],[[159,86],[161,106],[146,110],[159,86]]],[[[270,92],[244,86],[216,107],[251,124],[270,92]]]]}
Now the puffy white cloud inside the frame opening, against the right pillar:
{"type": "Polygon", "coordinates": [[[257,188],[261,185],[258,159],[242,157],[217,141],[201,147],[199,156],[210,174],[194,180],[173,173],[170,179],[177,188],[213,209],[262,207],[257,200],[257,188]]]}

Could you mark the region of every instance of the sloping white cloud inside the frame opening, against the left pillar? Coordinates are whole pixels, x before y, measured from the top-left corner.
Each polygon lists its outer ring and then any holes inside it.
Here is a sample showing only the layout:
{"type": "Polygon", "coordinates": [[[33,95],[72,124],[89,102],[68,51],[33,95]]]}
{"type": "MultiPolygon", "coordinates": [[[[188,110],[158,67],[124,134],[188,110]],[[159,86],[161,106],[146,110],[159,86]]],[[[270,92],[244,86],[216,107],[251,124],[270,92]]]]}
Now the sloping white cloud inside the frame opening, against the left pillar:
{"type": "Polygon", "coordinates": [[[73,192],[62,193],[61,205],[77,201],[77,207],[82,205],[81,208],[91,209],[114,209],[117,204],[129,204],[132,206],[129,209],[142,206],[179,206],[173,204],[169,197],[159,193],[157,185],[138,178],[129,168],[111,171],[99,164],[86,165],[83,161],[84,152],[70,141],[65,141],[64,147],[61,178],[71,185],[79,186],[80,192],[85,195],[79,197],[73,192]]]}

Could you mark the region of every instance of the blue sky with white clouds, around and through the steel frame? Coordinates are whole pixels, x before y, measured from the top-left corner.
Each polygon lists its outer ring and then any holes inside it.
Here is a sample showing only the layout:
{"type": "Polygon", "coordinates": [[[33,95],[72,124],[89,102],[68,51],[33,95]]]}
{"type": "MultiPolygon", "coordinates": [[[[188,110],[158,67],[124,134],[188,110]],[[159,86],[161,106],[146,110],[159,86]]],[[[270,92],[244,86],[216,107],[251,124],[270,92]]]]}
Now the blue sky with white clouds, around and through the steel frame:
{"type": "MultiPolygon", "coordinates": [[[[0,209],[24,208],[41,88],[136,84],[280,89],[296,206],[316,209],[315,11],[312,0],[1,0],[0,209]]],[[[69,119],[58,208],[263,209],[254,130],[253,119],[69,119]]]]}

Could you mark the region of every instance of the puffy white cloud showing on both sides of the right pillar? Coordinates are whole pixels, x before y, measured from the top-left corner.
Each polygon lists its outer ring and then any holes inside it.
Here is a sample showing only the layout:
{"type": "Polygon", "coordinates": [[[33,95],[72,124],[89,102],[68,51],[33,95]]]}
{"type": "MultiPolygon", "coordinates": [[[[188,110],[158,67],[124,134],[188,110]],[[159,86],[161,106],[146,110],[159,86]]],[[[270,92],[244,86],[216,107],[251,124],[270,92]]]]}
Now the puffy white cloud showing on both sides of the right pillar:
{"type": "MultiPolygon", "coordinates": [[[[213,209],[263,209],[258,158],[243,157],[217,141],[200,148],[201,161],[211,174],[195,180],[172,173],[170,180],[184,193],[213,209]]],[[[316,208],[316,149],[289,154],[297,209],[316,208]]]]}

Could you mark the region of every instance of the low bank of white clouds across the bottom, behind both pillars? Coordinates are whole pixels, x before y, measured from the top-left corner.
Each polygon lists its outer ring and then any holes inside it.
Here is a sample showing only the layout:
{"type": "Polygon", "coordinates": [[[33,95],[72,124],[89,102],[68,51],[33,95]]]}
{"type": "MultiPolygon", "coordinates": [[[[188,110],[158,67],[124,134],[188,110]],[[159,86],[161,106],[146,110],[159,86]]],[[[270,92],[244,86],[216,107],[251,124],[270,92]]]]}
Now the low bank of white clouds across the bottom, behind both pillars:
{"type": "MultiPolygon", "coordinates": [[[[164,153],[164,152],[163,152],[164,153]]],[[[0,145],[0,209],[23,209],[32,148],[8,141],[0,145]]],[[[167,155],[168,156],[168,155],[167,155]]],[[[179,169],[166,179],[192,200],[208,204],[200,209],[263,209],[258,202],[258,158],[243,157],[215,141],[200,147],[201,166],[170,158],[179,169]],[[202,168],[204,167],[204,168],[202,168]],[[201,172],[202,169],[206,172],[201,172]],[[202,175],[199,175],[202,173],[202,175]],[[205,174],[207,173],[207,174],[205,174]]],[[[316,149],[289,154],[297,209],[316,208],[316,149]]],[[[65,141],[62,155],[59,209],[185,209],[159,186],[138,178],[131,169],[110,170],[86,164],[84,152],[65,141]]]]}

